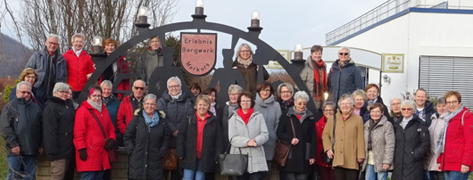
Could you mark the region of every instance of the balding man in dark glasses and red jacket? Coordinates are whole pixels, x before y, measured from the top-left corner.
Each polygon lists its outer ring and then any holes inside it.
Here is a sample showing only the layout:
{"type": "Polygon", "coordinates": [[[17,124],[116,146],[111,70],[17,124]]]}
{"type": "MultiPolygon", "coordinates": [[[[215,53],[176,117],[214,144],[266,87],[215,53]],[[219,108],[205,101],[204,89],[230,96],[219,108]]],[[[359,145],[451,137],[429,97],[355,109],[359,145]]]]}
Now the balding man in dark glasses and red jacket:
{"type": "Polygon", "coordinates": [[[133,115],[143,109],[143,97],[145,96],[146,84],[145,81],[138,79],[133,82],[131,91],[132,94],[127,95],[123,98],[120,103],[120,108],[117,114],[117,127],[120,133],[125,135],[125,130],[129,125],[129,121],[133,118],[133,115]]]}

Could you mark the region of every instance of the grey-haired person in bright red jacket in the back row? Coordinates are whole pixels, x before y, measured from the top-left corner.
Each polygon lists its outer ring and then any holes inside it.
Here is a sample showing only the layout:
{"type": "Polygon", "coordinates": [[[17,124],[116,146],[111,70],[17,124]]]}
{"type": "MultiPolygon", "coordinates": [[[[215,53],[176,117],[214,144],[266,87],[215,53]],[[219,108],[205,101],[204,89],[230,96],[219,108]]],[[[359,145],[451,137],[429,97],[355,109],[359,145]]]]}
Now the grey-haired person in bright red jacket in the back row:
{"type": "Polygon", "coordinates": [[[67,83],[72,88],[72,98],[77,100],[80,91],[86,86],[87,79],[94,72],[94,62],[90,55],[82,49],[84,46],[84,35],[76,33],[71,38],[72,46],[62,54],[67,62],[67,83]]]}

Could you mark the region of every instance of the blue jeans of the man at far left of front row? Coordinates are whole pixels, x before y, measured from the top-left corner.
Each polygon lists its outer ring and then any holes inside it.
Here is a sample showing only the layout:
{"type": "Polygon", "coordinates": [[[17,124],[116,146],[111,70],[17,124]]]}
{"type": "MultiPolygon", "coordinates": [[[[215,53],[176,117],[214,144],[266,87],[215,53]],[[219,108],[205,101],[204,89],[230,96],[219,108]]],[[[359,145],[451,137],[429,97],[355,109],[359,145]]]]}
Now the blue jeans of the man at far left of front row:
{"type": "Polygon", "coordinates": [[[8,172],[6,179],[21,179],[24,180],[36,179],[36,155],[13,155],[6,159],[8,163],[8,172]],[[24,169],[24,174],[21,173],[24,169]]]}

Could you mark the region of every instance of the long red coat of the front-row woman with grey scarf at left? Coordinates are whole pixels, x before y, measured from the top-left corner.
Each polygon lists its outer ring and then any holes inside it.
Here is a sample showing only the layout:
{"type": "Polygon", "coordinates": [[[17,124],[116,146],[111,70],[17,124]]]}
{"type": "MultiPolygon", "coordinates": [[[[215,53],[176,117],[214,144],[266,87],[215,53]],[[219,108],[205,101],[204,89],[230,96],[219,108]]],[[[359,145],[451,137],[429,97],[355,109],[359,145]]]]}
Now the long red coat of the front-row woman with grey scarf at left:
{"type": "Polygon", "coordinates": [[[105,134],[108,138],[112,138],[116,142],[115,128],[105,105],[102,104],[102,113],[92,108],[92,106],[84,101],[76,112],[76,121],[74,123],[74,145],[76,146],[76,162],[77,171],[99,171],[110,169],[110,161],[108,153],[105,151],[104,135],[97,125],[94,116],[88,110],[93,110],[97,115],[102,126],[104,126],[105,134]],[[79,150],[87,148],[87,160],[79,159],[79,150]]]}

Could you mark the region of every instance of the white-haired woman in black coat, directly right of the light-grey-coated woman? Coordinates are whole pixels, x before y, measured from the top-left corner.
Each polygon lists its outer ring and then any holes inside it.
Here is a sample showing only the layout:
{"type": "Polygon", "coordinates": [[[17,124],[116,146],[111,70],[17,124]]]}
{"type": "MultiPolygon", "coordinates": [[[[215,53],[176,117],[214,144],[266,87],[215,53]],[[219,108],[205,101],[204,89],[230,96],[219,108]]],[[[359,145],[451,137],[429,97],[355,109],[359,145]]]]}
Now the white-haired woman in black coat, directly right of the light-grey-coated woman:
{"type": "Polygon", "coordinates": [[[304,91],[295,93],[294,108],[289,109],[279,121],[279,140],[292,144],[286,167],[281,168],[286,172],[287,180],[306,179],[312,172],[311,165],[315,163],[317,135],[315,117],[311,110],[307,110],[309,98],[304,91]]]}

